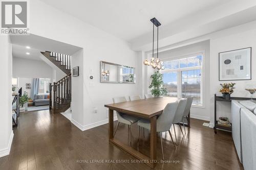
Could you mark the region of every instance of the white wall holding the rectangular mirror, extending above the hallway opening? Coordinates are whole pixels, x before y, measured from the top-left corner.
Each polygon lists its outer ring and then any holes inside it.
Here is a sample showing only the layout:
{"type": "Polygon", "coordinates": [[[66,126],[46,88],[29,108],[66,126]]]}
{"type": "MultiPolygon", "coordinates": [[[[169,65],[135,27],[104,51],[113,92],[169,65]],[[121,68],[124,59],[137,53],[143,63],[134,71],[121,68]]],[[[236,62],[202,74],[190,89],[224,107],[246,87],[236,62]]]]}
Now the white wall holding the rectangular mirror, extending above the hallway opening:
{"type": "MultiPolygon", "coordinates": [[[[137,68],[137,54],[130,49],[129,43],[37,0],[30,2],[30,33],[83,48],[83,63],[78,64],[83,66],[83,100],[77,101],[78,106],[83,106],[77,113],[84,115],[82,129],[108,122],[104,104],[112,103],[113,97],[140,92],[137,84],[99,83],[101,60],[137,68]],[[49,27],[55,25],[58,27],[49,27]],[[90,75],[95,77],[94,80],[89,79],[90,75]],[[98,113],[93,113],[95,108],[98,113]]],[[[73,92],[81,91],[78,88],[73,92]]],[[[76,114],[74,105],[72,102],[72,114],[76,114]]]]}

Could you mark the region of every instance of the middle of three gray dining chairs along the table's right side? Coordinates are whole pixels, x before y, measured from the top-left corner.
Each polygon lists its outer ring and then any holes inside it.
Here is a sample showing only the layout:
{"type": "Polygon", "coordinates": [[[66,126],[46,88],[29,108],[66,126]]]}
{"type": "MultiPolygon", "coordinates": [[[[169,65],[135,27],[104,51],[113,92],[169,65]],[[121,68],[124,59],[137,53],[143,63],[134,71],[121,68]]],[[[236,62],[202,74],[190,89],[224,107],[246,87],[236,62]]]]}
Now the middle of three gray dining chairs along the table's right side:
{"type": "MultiPolygon", "coordinates": [[[[183,118],[183,113],[184,113],[184,110],[186,107],[186,103],[187,103],[187,99],[182,99],[179,101],[179,105],[178,105],[178,108],[176,110],[174,120],[173,120],[174,134],[175,134],[175,140],[176,140],[177,145],[178,145],[178,142],[177,142],[177,137],[176,137],[175,124],[179,124],[181,122],[181,120],[183,118]]],[[[179,124],[179,127],[180,127],[182,135],[184,136],[180,124],[179,124]]]]}

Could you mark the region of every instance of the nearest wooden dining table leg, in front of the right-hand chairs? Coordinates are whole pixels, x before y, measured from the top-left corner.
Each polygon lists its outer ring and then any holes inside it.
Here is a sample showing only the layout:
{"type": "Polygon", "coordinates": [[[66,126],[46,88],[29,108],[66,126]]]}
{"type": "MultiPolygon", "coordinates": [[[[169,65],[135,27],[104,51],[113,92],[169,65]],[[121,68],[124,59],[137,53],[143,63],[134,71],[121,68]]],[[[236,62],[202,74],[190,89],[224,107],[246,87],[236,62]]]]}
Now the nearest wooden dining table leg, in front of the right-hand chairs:
{"type": "Polygon", "coordinates": [[[150,119],[150,158],[153,168],[156,166],[157,159],[157,116],[151,117],[150,119]]]}

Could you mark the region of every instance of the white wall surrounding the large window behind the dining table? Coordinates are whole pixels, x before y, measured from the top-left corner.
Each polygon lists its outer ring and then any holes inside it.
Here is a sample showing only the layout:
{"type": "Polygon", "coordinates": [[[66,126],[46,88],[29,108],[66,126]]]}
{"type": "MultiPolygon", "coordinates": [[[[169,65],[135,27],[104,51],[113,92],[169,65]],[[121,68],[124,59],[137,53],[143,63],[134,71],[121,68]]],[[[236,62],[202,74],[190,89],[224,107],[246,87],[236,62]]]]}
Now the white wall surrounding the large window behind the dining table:
{"type": "MultiPolygon", "coordinates": [[[[160,59],[169,59],[169,58],[177,58],[186,55],[196,54],[196,53],[204,53],[203,61],[203,106],[193,106],[191,108],[190,116],[192,118],[198,118],[203,120],[210,120],[209,116],[209,100],[207,99],[209,96],[209,72],[210,72],[210,42],[209,40],[198,42],[195,44],[186,45],[183,47],[175,48],[173,50],[167,50],[159,53],[160,59]]],[[[151,58],[151,56],[150,56],[151,58]]],[[[144,66],[149,67],[149,66],[144,66]]],[[[153,70],[150,66],[149,69],[153,70]]],[[[152,71],[148,73],[147,78],[150,78],[152,75],[152,71]]],[[[148,80],[148,83],[151,83],[151,79],[148,80]]],[[[149,85],[149,84],[148,84],[149,85]]],[[[150,93],[150,89],[147,88],[148,93],[150,93]]]]}

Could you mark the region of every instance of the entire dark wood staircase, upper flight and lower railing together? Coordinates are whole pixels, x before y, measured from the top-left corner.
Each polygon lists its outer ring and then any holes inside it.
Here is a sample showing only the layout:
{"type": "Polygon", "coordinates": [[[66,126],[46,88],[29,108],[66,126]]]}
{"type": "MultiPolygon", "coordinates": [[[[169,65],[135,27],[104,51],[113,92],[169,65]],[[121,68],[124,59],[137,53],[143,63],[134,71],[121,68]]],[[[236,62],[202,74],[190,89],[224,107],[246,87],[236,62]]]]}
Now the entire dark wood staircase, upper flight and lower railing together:
{"type": "Polygon", "coordinates": [[[67,74],[59,81],[50,83],[50,112],[65,112],[71,103],[71,56],[49,51],[41,54],[67,74]]]}

